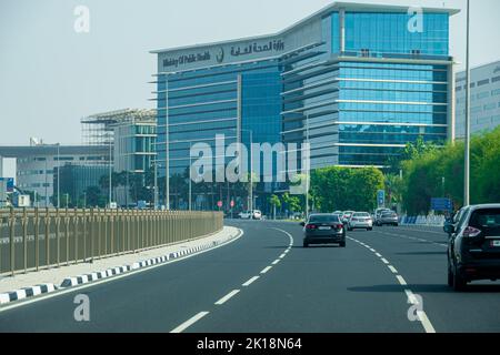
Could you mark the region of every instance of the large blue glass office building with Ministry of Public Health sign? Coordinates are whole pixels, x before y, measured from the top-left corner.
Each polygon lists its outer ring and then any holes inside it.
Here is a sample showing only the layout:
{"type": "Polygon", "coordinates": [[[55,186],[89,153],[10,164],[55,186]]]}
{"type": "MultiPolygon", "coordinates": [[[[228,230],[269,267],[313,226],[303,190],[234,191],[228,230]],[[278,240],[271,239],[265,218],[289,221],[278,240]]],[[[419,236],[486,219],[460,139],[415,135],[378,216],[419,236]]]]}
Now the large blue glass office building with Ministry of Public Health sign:
{"type": "Polygon", "coordinates": [[[252,132],[310,142],[312,169],[383,168],[418,136],[453,140],[457,12],[336,2],[276,34],[153,51],[158,159],[181,173],[191,144],[252,132]]]}

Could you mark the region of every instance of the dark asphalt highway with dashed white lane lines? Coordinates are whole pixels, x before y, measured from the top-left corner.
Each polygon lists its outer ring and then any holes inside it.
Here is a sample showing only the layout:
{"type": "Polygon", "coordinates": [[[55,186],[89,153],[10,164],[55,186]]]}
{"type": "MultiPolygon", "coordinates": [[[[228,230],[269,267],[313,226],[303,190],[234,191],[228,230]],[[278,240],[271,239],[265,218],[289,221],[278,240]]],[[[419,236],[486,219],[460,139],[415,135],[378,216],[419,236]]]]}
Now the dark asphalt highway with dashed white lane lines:
{"type": "Polygon", "coordinates": [[[500,332],[500,284],[447,282],[432,227],[349,232],[346,248],[302,247],[294,223],[230,221],[226,246],[0,311],[0,332],[500,332]],[[74,296],[90,300],[77,322],[74,296]]]}

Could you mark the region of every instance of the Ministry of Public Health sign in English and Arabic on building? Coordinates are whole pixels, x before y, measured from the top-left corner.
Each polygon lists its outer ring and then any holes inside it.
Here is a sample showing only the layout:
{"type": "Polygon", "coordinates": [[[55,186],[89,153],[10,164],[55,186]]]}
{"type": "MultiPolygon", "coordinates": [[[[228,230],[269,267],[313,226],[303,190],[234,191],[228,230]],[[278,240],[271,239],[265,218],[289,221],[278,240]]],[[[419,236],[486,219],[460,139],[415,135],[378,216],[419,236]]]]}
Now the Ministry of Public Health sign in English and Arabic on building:
{"type": "Polygon", "coordinates": [[[163,59],[163,68],[179,68],[187,64],[209,62],[213,59],[218,64],[222,64],[228,58],[241,58],[251,54],[282,52],[284,42],[282,40],[271,40],[268,42],[253,42],[246,45],[231,45],[230,48],[219,47],[200,53],[181,54],[179,57],[163,59]]]}

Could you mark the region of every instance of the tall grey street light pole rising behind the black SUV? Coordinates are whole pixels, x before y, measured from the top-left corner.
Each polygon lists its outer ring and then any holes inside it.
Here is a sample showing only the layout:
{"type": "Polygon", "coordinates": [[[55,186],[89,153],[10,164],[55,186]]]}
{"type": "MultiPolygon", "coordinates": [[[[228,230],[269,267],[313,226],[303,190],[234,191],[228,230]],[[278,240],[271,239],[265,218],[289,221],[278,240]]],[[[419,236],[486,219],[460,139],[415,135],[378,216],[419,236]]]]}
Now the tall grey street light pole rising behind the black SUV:
{"type": "Polygon", "coordinates": [[[470,205],[470,0],[467,0],[467,59],[466,59],[466,162],[463,205],[470,205]]]}

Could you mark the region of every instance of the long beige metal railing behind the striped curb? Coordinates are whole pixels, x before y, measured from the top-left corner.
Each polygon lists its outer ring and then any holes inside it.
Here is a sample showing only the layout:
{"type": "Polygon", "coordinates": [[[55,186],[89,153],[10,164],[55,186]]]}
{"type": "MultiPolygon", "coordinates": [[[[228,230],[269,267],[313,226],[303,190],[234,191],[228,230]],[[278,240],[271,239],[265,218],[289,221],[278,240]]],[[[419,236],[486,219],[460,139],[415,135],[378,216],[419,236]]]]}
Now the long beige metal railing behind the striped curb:
{"type": "Polygon", "coordinates": [[[0,275],[137,253],[222,227],[220,212],[0,210],[0,275]]]}

